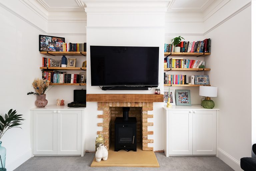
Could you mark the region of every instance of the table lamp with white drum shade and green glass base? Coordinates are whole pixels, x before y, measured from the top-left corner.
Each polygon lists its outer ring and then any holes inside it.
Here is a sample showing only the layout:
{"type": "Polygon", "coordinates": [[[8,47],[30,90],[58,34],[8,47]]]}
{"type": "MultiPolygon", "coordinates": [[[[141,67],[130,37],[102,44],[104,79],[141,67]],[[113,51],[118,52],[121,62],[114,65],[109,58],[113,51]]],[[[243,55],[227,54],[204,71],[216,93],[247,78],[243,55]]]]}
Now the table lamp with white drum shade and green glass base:
{"type": "Polygon", "coordinates": [[[202,102],[202,106],[206,109],[212,109],[214,107],[214,102],[211,97],[217,97],[218,87],[212,86],[199,86],[199,95],[205,96],[205,100],[202,102]]]}

